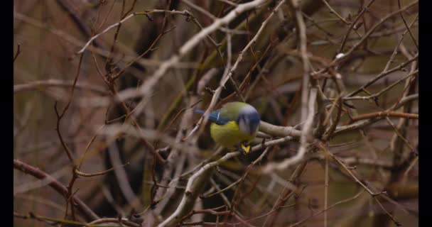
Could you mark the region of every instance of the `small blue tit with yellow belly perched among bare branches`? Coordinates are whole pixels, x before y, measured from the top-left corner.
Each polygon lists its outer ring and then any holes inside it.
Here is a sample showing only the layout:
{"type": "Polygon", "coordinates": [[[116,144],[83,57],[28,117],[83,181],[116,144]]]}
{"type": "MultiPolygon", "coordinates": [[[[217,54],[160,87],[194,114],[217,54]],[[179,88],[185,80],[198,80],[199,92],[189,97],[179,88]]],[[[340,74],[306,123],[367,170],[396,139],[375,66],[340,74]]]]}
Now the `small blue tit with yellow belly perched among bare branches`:
{"type": "MultiPolygon", "coordinates": [[[[195,113],[205,111],[195,109],[195,113]]],[[[221,109],[212,111],[209,116],[210,135],[215,143],[225,148],[235,148],[244,155],[249,153],[249,143],[258,132],[259,114],[254,106],[244,102],[229,102],[221,109]]]]}

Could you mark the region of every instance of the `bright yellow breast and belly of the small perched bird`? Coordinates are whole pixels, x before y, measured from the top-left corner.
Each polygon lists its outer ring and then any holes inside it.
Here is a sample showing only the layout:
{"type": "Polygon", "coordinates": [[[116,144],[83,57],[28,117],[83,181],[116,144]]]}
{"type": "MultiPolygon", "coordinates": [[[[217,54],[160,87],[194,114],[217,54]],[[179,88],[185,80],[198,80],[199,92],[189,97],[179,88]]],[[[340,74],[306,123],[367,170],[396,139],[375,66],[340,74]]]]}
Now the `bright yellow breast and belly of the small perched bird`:
{"type": "Polygon", "coordinates": [[[249,135],[240,131],[235,121],[229,121],[225,125],[212,123],[210,125],[210,135],[212,135],[213,140],[217,144],[225,148],[234,148],[234,145],[238,145],[243,141],[251,141],[255,138],[255,134],[249,135]]]}

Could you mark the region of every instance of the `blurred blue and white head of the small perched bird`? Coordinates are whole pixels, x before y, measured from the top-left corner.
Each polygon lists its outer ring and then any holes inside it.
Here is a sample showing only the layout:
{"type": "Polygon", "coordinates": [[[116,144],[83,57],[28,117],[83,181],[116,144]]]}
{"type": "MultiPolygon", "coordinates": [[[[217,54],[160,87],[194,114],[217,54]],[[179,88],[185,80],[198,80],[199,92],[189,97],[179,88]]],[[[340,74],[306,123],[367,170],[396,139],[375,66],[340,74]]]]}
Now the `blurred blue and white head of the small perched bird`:
{"type": "Polygon", "coordinates": [[[259,114],[253,106],[243,106],[239,111],[237,124],[240,131],[252,135],[257,133],[259,126],[259,114]]]}

